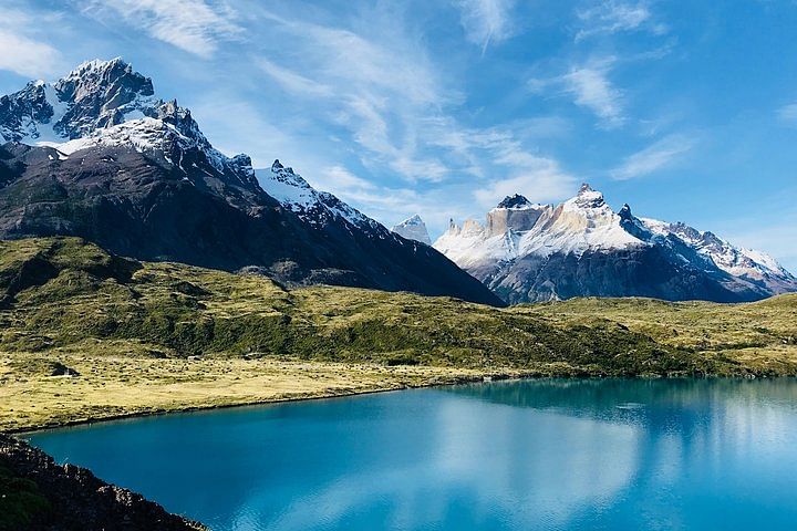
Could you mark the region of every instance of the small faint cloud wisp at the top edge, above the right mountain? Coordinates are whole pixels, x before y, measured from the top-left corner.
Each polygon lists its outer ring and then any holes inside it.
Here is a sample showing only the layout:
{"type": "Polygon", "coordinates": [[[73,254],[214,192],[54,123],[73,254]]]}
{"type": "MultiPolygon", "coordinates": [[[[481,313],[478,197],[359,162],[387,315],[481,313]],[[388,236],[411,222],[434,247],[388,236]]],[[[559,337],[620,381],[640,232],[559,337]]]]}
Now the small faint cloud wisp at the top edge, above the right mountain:
{"type": "Polygon", "coordinates": [[[577,11],[576,14],[583,24],[576,33],[576,41],[645,27],[656,34],[666,32],[666,27],[653,23],[646,2],[601,1],[591,8],[577,11]]]}

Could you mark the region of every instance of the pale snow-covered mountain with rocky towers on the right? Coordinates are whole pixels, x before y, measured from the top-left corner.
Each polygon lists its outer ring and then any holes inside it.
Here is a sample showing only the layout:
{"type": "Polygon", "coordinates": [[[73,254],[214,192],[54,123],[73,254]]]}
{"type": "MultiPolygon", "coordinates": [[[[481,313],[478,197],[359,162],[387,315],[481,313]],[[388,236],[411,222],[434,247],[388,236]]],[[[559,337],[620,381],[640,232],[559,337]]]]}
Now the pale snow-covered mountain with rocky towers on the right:
{"type": "Polygon", "coordinates": [[[507,302],[572,296],[749,301],[797,291],[772,257],[684,223],[614,212],[582,185],[561,205],[504,199],[486,223],[453,221],[434,247],[507,302]]]}

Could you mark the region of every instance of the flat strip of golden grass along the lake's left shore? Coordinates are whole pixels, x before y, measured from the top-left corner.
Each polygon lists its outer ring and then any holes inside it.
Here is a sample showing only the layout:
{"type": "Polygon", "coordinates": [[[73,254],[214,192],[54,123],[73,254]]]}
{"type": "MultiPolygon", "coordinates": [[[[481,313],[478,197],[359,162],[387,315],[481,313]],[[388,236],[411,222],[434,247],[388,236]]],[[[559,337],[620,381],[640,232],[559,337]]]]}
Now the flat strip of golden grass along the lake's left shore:
{"type": "MultiPolygon", "coordinates": [[[[480,379],[486,374],[464,368],[273,358],[0,353],[0,431],[452,384],[480,379]],[[54,362],[77,371],[80,376],[51,376],[54,362]]],[[[522,373],[506,371],[500,375],[522,373]]]]}

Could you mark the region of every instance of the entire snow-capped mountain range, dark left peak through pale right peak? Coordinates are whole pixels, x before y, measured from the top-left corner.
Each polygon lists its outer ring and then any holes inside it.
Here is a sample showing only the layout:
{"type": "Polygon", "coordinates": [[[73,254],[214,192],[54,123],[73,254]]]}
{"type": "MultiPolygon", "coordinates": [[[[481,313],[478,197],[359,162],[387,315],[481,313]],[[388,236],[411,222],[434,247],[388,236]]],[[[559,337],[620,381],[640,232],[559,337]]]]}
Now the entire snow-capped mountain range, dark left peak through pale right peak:
{"type": "Polygon", "coordinates": [[[79,236],[142,260],[451,295],[494,305],[573,296],[741,302],[797,291],[772,257],[684,223],[614,212],[583,185],[561,205],[505,198],[431,246],[387,230],[275,160],[213,147],[189,110],[122,59],[0,97],[0,238],[79,236]]]}

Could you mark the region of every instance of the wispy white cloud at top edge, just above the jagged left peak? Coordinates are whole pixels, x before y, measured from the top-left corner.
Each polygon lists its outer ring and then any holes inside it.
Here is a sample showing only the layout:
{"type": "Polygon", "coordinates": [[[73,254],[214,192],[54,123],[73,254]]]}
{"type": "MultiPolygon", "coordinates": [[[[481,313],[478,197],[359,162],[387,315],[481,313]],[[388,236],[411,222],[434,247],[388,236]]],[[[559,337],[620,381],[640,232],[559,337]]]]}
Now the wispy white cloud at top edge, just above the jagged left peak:
{"type": "Polygon", "coordinates": [[[121,15],[151,37],[204,58],[216,52],[218,41],[241,31],[232,10],[213,0],[89,0],[83,12],[103,21],[121,15]]]}

